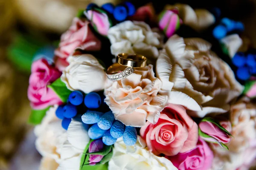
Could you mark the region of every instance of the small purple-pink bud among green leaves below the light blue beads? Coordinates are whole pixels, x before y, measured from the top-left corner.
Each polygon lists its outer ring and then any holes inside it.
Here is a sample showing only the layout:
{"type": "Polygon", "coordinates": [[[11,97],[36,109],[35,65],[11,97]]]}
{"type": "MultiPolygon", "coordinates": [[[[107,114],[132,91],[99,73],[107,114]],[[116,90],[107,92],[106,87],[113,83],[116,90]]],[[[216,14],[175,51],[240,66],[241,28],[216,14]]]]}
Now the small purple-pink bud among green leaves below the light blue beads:
{"type": "MultiPolygon", "coordinates": [[[[94,140],[93,142],[90,143],[89,153],[101,151],[103,147],[104,144],[102,142],[102,139],[94,140]]],[[[102,155],[89,155],[90,165],[95,165],[95,163],[101,161],[103,157],[104,156],[102,155]]]]}

